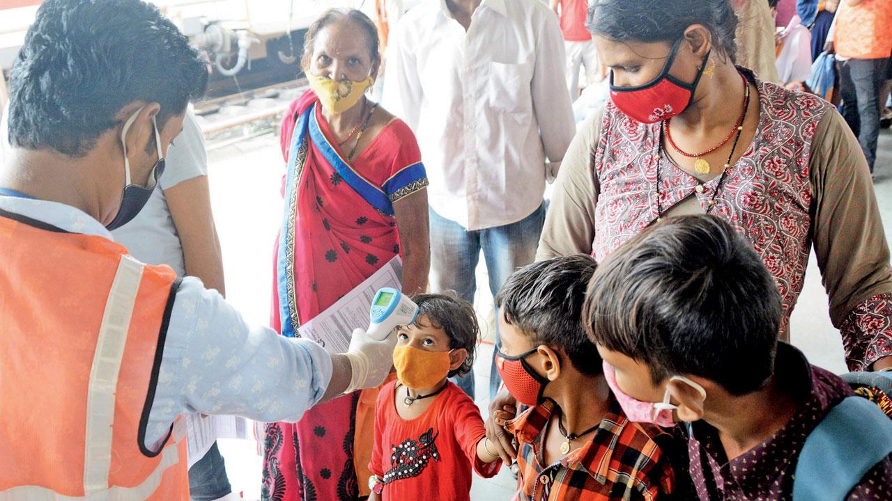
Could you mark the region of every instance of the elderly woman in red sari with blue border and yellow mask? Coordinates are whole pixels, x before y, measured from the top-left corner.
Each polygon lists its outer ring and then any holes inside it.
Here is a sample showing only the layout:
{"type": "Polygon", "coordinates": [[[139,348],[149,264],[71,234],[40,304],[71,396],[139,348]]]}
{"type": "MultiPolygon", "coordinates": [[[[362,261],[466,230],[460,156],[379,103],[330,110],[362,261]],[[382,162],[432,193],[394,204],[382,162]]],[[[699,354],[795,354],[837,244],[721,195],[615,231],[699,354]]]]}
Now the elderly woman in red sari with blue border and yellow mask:
{"type": "MultiPolygon", "coordinates": [[[[366,91],[381,60],[375,25],[355,10],[326,12],[304,41],[310,91],[282,124],[285,217],[272,324],[293,336],[394,256],[403,292],[423,292],[429,268],[427,177],[409,127],[366,91]]],[[[265,499],[368,496],[376,391],[267,426],[265,499]]],[[[270,403],[275,405],[275,403],[270,403]]]]}

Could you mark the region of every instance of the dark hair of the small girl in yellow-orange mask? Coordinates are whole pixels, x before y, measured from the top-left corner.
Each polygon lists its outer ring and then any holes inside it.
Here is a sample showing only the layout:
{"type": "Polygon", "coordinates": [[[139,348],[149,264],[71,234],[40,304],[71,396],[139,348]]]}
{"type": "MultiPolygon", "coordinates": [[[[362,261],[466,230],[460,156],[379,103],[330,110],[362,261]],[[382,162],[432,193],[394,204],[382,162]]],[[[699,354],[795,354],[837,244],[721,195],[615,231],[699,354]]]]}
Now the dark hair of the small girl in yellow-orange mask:
{"type": "MultiPolygon", "coordinates": [[[[412,296],[412,300],[418,305],[419,319],[424,316],[430,323],[429,326],[442,329],[449,336],[450,349],[464,348],[467,351],[465,363],[450,371],[449,377],[471,372],[480,336],[474,305],[451,294],[416,294],[412,296]]],[[[419,327],[428,326],[419,319],[415,321],[419,327]]]]}

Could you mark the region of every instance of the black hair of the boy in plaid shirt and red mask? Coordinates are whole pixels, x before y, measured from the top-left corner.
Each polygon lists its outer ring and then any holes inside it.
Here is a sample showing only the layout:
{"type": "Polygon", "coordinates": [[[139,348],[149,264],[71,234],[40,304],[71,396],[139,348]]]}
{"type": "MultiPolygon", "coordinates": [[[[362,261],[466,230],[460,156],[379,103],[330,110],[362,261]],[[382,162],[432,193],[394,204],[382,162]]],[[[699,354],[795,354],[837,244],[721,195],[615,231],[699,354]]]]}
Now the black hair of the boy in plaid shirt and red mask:
{"type": "Polygon", "coordinates": [[[578,254],[522,267],[508,277],[496,296],[505,321],[533,344],[561,349],[582,374],[601,374],[601,357],[582,326],[582,299],[597,267],[578,254]]]}

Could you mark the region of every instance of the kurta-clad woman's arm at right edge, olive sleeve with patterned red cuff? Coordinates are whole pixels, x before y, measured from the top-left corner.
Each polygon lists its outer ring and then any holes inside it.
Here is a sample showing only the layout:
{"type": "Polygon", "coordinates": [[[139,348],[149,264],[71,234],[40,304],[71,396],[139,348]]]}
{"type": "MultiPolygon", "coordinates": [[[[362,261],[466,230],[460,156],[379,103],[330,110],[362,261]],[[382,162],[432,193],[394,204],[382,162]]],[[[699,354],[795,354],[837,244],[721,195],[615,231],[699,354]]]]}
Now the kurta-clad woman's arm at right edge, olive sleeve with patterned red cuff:
{"type": "Polygon", "coordinates": [[[873,182],[858,140],[836,110],[814,133],[812,234],[830,319],[852,370],[892,365],[892,269],[873,182]]]}

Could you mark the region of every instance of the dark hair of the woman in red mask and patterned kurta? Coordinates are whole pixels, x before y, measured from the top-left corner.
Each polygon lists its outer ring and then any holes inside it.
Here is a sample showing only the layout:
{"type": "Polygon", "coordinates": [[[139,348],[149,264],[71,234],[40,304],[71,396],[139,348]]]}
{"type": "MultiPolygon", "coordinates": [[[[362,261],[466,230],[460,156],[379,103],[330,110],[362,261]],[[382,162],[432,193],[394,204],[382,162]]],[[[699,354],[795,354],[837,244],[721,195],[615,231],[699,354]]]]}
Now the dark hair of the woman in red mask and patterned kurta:
{"type": "Polygon", "coordinates": [[[713,46],[737,61],[737,14],[731,0],[594,0],[586,28],[622,42],[673,42],[691,25],[701,24],[713,46]]]}

